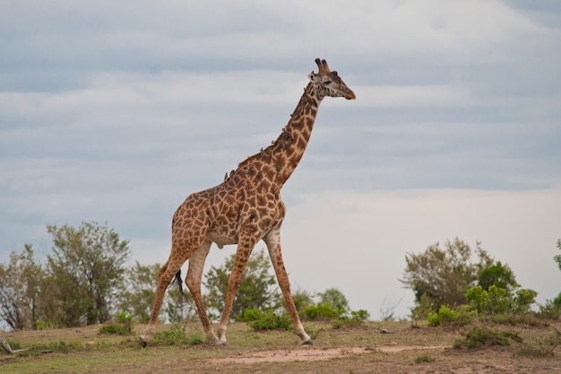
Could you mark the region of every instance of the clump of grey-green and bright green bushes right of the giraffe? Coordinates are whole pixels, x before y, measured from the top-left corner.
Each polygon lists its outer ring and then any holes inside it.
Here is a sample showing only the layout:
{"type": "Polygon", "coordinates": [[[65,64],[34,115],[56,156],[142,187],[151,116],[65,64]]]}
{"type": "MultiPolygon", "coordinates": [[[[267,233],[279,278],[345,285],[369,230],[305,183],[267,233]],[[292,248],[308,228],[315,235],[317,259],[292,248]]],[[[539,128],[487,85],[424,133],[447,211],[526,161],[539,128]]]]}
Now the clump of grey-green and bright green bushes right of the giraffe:
{"type": "Polygon", "coordinates": [[[428,326],[464,326],[474,320],[539,325],[539,319],[557,319],[561,313],[561,293],[532,310],[538,292],[516,283],[512,269],[489,257],[479,242],[472,250],[456,238],[446,241],[444,249],[436,244],[405,260],[401,283],[415,293],[411,317],[427,318],[428,326]]]}

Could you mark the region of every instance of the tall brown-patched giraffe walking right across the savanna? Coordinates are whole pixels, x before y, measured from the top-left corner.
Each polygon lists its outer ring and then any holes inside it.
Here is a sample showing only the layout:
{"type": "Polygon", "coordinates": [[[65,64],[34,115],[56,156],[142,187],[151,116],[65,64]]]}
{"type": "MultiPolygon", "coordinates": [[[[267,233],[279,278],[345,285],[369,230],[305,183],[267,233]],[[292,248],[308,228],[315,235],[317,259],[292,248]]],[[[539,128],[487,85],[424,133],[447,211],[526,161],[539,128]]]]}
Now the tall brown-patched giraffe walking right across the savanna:
{"type": "Polygon", "coordinates": [[[142,343],[150,342],[154,334],[164,293],[176,277],[181,283],[180,268],[189,260],[185,283],[196,305],[204,333],[215,344],[226,345],[226,330],[232,304],[247,260],[255,244],[263,239],[272,266],[286,300],[289,315],[301,344],[313,344],[298,317],[290,293],[289,276],[280,249],[280,225],[286,207],[280,199],[284,185],[302,159],[314,127],[315,116],[326,96],[355,99],[355,94],[331,71],[325,60],[315,59],[318,73],[308,74],[309,83],[287,126],[272,144],[237,165],[216,186],[187,196],[177,208],[171,223],[171,253],[158,274],[156,299],[151,317],[141,335],[142,343]],[[234,266],[229,276],[224,309],[214,333],[201,294],[204,261],[216,243],[219,248],[237,244],[234,266]]]}

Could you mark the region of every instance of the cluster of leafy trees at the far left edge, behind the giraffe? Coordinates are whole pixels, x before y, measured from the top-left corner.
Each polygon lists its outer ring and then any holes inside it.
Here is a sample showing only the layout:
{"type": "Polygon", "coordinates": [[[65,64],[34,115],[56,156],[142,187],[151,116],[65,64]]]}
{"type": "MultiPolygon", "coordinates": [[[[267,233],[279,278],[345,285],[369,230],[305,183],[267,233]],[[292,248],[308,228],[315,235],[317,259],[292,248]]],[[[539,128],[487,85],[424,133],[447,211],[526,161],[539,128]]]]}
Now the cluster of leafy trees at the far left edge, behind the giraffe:
{"type": "Polygon", "coordinates": [[[13,330],[85,326],[111,318],[129,255],[127,240],[95,222],[47,226],[51,254],[30,245],[0,264],[0,318],[13,330]]]}

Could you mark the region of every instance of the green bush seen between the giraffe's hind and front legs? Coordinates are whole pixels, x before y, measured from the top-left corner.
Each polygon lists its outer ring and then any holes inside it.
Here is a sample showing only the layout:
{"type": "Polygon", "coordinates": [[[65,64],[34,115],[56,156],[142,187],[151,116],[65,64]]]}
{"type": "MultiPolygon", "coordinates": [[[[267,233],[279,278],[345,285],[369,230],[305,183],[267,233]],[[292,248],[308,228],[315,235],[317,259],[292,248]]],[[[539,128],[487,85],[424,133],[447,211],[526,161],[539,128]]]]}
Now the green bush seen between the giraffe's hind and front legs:
{"type": "MultiPolygon", "coordinates": [[[[208,309],[221,313],[228,293],[228,281],[234,266],[236,254],[228,257],[220,267],[211,267],[204,275],[204,286],[208,293],[205,302],[208,309]]],[[[246,265],[246,271],[237,290],[236,299],[230,317],[236,318],[246,309],[278,309],[280,292],[276,286],[274,275],[270,273],[271,262],[264,250],[255,251],[246,265]]]]}

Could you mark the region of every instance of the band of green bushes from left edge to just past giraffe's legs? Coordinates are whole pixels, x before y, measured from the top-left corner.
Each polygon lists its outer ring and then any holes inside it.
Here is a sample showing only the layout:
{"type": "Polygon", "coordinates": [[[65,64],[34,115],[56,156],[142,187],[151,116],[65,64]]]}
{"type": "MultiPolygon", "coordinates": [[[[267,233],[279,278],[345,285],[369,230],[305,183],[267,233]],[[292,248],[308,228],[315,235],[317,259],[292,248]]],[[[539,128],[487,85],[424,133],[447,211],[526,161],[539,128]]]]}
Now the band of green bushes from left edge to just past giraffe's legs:
{"type": "MultiPolygon", "coordinates": [[[[101,334],[130,335],[133,322],[148,322],[160,264],[135,262],[125,267],[128,241],[96,222],[82,222],[79,228],[49,225],[47,232],[54,247],[45,264],[31,246],[25,246],[22,254],[13,252],[8,265],[0,264],[0,318],[8,326],[44,330],[101,323],[101,334]]],[[[211,318],[219,317],[223,308],[234,260],[232,255],[204,275],[208,293],[203,297],[211,318]]],[[[231,316],[256,330],[292,328],[271,270],[266,252],[256,250],[234,301],[231,316]]],[[[360,325],[368,317],[366,310],[352,311],[342,292],[333,288],[315,295],[298,290],[294,300],[307,321],[334,321],[334,326],[342,327],[360,325]]],[[[160,322],[179,324],[198,316],[191,295],[170,287],[160,317],[160,322]]],[[[165,334],[176,336],[161,336],[163,342],[181,340],[175,330],[165,334]]]]}

